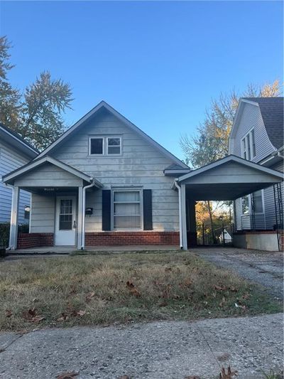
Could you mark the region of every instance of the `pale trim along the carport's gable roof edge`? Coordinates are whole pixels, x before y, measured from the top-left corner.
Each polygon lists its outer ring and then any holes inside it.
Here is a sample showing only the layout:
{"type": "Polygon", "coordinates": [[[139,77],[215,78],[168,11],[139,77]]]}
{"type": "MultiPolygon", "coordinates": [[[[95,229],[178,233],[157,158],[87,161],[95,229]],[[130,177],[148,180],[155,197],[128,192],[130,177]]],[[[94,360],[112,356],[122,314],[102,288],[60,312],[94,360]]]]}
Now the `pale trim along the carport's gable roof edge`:
{"type": "Polygon", "coordinates": [[[200,169],[193,170],[188,174],[180,176],[180,178],[177,178],[176,180],[180,183],[182,181],[187,180],[188,178],[191,178],[192,176],[202,174],[204,171],[208,171],[208,170],[214,169],[215,167],[222,166],[222,164],[226,164],[230,161],[235,161],[236,163],[239,163],[241,165],[248,166],[248,167],[251,167],[252,169],[265,172],[266,174],[271,174],[283,180],[282,173],[275,171],[273,169],[269,169],[268,167],[261,166],[260,164],[257,164],[253,161],[247,161],[246,159],[243,159],[243,158],[240,158],[239,156],[234,156],[234,155],[225,156],[224,158],[219,159],[219,161],[215,161],[212,164],[207,164],[206,166],[200,167],[200,169]]]}

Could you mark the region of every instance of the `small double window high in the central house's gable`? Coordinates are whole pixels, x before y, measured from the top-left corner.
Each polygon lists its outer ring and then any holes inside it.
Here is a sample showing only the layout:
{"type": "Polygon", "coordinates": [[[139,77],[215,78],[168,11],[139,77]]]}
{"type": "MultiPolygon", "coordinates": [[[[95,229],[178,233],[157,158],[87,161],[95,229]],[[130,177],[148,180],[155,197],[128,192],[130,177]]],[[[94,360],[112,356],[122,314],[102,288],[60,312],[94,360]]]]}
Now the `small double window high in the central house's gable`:
{"type": "Polygon", "coordinates": [[[121,155],[121,137],[89,137],[89,155],[121,155]]]}

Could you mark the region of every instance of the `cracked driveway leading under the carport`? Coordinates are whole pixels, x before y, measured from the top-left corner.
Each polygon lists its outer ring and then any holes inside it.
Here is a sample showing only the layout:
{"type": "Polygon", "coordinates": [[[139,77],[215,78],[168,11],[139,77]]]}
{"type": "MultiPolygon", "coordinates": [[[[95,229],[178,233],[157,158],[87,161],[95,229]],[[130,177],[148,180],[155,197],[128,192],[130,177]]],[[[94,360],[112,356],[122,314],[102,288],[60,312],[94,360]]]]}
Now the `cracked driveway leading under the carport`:
{"type": "Polygon", "coordinates": [[[266,287],[283,299],[283,252],[263,252],[233,247],[198,247],[190,250],[204,260],[236,272],[239,276],[266,287]]]}

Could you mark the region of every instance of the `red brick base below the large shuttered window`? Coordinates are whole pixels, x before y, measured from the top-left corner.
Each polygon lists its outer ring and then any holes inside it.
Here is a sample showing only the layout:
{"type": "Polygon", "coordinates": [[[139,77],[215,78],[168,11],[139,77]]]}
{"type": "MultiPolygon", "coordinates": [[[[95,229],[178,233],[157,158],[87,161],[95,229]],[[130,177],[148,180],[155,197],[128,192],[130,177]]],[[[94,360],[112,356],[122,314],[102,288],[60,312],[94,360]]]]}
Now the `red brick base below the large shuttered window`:
{"type": "Polygon", "coordinates": [[[86,246],[179,245],[178,232],[93,232],[85,233],[86,246]]]}

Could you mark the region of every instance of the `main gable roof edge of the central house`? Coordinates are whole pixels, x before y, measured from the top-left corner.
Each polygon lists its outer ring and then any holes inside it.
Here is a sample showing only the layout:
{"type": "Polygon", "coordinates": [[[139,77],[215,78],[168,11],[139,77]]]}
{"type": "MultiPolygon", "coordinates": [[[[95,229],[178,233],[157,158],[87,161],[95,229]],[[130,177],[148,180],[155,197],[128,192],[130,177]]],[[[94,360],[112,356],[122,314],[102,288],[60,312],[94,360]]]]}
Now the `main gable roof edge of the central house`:
{"type": "Polygon", "coordinates": [[[126,124],[127,127],[131,128],[134,132],[138,133],[143,139],[145,139],[147,142],[149,142],[152,146],[155,147],[155,149],[158,149],[161,154],[164,156],[167,156],[169,159],[171,159],[175,164],[178,164],[183,169],[188,169],[188,166],[184,164],[180,159],[178,159],[176,156],[174,156],[170,151],[165,149],[163,146],[158,144],[158,142],[155,142],[151,137],[148,136],[148,134],[144,133],[141,129],[136,127],[129,119],[126,119],[122,114],[114,110],[113,107],[111,107],[107,102],[101,101],[98,105],[96,105],[92,110],[90,110],[87,114],[84,115],[79,121],[77,121],[70,129],[68,129],[64,134],[62,134],[61,137],[59,137],[53,144],[50,144],[44,151],[42,151],[38,158],[45,156],[46,154],[50,154],[53,149],[55,149],[56,146],[59,144],[62,144],[62,142],[67,138],[70,137],[71,134],[76,132],[80,127],[84,126],[84,123],[87,122],[87,120],[94,116],[99,110],[102,109],[108,110],[111,114],[114,114],[115,117],[117,117],[121,122],[126,124]]]}

